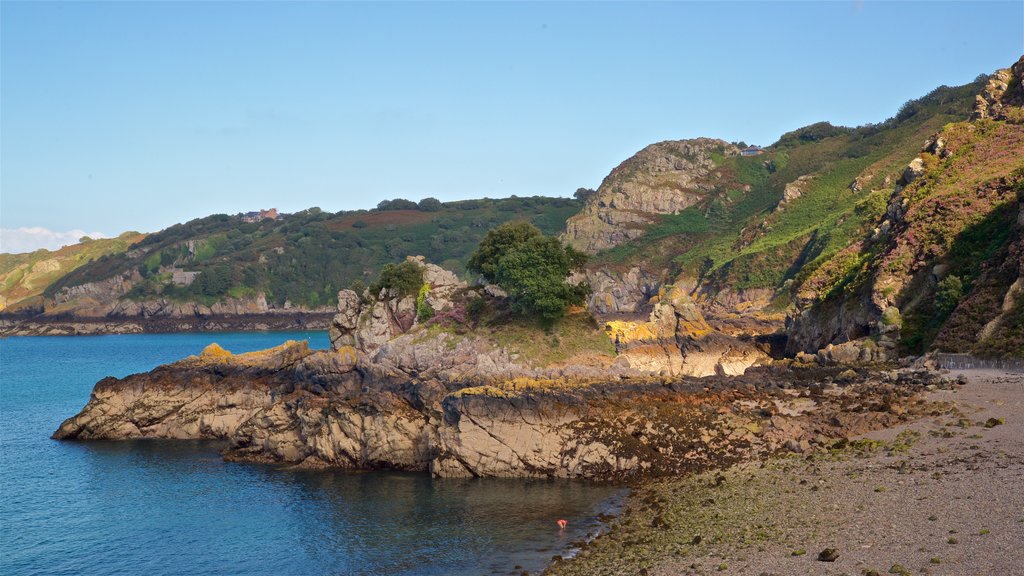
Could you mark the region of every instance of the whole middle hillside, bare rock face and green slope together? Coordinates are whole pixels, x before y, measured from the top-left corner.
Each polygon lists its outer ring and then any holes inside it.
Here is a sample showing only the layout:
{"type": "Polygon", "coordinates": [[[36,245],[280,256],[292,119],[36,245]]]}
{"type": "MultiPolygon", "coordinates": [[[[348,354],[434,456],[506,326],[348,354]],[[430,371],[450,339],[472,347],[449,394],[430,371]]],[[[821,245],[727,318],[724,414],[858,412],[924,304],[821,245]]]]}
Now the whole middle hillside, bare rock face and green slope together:
{"type": "Polygon", "coordinates": [[[718,327],[780,330],[807,280],[876,225],[907,161],[970,117],[986,81],[937,88],[881,124],[820,122],[765,149],[706,138],[644,149],[568,222],[566,240],[594,254],[595,310],[637,313],[676,283],[718,327]]]}

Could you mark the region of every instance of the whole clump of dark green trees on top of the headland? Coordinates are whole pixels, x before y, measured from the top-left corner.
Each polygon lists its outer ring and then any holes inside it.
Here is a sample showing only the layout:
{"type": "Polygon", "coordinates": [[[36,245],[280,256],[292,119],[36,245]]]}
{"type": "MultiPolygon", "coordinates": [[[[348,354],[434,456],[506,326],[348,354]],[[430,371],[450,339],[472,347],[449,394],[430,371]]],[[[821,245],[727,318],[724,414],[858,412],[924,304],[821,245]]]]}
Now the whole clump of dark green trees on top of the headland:
{"type": "Polygon", "coordinates": [[[582,271],[587,257],[536,227],[511,222],[486,234],[469,258],[470,269],[508,292],[512,308],[550,325],[590,293],[566,278],[582,271]]]}

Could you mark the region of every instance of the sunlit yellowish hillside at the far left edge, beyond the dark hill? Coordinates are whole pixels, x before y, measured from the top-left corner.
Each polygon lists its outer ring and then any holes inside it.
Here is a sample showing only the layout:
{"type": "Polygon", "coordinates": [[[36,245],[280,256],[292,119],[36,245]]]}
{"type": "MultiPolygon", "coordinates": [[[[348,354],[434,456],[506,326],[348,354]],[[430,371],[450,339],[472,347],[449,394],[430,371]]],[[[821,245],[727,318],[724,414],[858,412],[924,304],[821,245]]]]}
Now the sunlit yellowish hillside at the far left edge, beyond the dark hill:
{"type": "Polygon", "coordinates": [[[97,258],[124,253],[143,238],[144,234],[126,232],[117,238],[87,240],[55,251],[0,254],[0,312],[42,306],[43,291],[52,283],[97,258]]]}

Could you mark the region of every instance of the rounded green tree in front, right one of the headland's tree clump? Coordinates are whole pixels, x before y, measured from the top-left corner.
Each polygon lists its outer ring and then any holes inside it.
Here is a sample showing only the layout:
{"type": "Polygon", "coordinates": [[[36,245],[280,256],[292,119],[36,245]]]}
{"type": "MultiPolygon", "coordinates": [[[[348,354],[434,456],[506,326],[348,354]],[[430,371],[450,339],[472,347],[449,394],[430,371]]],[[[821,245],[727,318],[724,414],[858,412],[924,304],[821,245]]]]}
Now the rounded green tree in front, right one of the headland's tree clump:
{"type": "Polygon", "coordinates": [[[557,238],[535,236],[512,246],[499,261],[496,283],[508,292],[518,314],[537,316],[550,325],[570,305],[583,304],[586,284],[569,284],[566,277],[581,270],[587,257],[563,246],[557,238]]]}

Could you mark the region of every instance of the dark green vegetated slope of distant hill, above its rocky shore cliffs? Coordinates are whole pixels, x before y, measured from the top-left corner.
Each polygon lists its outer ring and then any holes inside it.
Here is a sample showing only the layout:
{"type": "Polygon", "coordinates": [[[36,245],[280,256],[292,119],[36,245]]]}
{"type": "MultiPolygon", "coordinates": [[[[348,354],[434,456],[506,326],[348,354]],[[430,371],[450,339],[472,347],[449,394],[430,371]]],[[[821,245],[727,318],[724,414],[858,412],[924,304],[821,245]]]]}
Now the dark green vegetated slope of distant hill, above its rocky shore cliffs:
{"type": "Polygon", "coordinates": [[[209,302],[263,291],[278,304],[326,305],[353,281],[369,284],[386,262],[423,254],[462,272],[487,230],[522,219],[552,234],[579,209],[579,202],[564,198],[510,198],[450,202],[437,211],[332,214],[314,208],[257,223],[218,214],[153,234],[138,253],[101,258],[54,282],[47,293],[138,271],[145,281],[130,297],[209,302]],[[190,287],[174,286],[161,272],[168,266],[203,274],[190,287]]]}

